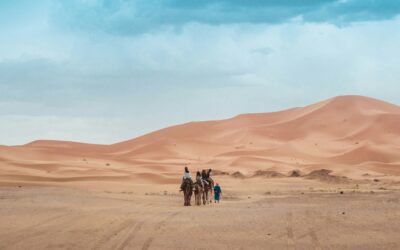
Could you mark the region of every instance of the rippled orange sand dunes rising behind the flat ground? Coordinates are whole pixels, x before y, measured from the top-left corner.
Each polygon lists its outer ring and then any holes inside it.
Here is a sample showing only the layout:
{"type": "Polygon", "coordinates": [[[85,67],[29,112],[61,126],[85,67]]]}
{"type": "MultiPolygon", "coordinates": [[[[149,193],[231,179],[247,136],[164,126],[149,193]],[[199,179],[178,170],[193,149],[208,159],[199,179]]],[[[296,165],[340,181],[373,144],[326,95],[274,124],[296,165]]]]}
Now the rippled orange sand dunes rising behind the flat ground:
{"type": "Polygon", "coordinates": [[[340,96],[281,112],[191,122],[112,145],[41,140],[0,146],[0,164],[3,181],[171,183],[186,164],[244,176],[318,169],[351,178],[400,175],[400,107],[340,96]]]}

